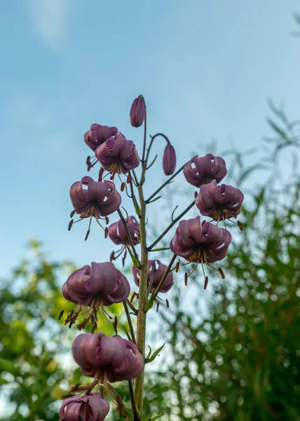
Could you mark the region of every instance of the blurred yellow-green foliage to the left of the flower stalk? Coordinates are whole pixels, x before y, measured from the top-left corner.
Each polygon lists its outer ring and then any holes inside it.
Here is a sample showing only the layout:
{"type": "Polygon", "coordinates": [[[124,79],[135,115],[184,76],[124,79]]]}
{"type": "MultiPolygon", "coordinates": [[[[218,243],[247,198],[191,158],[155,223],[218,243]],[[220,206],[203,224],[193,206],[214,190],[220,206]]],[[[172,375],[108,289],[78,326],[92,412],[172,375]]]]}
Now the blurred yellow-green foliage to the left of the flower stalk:
{"type": "MultiPolygon", "coordinates": [[[[88,383],[71,359],[76,328],[58,321],[74,305],[62,297],[61,285],[76,267],[50,262],[39,241],[29,241],[30,258],[22,260],[0,290],[1,420],[58,420],[57,408],[71,385],[88,383]],[[7,412],[6,412],[7,411],[7,412]]],[[[119,315],[122,306],[109,311],[119,315]]],[[[87,326],[87,330],[88,330],[87,326]]],[[[119,323],[123,330],[123,322],[119,323]]],[[[114,329],[100,318],[98,330],[114,329]]]]}

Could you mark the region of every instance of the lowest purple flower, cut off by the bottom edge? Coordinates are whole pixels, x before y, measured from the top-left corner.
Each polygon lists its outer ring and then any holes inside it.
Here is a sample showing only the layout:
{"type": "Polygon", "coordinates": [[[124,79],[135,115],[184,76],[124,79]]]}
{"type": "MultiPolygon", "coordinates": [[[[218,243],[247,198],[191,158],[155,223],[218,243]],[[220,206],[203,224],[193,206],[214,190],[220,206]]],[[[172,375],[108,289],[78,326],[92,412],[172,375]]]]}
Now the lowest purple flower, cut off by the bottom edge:
{"type": "Polygon", "coordinates": [[[70,396],[62,402],[59,416],[64,421],[103,421],[109,403],[100,392],[70,396]]]}

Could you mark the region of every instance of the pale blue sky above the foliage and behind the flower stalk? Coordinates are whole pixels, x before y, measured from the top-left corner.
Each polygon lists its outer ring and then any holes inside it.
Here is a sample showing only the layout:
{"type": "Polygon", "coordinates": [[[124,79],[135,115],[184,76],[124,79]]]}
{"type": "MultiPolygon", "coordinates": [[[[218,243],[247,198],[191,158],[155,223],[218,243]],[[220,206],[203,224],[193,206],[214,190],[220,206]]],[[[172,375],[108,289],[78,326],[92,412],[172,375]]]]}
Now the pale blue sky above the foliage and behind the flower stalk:
{"type": "MultiPolygon", "coordinates": [[[[169,136],[178,165],[212,139],[263,151],[267,98],[299,117],[297,10],[296,0],[2,2],[1,275],[30,237],[51,258],[109,258],[96,225],[86,243],[87,227],[67,232],[69,187],[86,175],[91,123],[117,126],[141,149],[128,118],[139,93],[149,133],[169,136]]],[[[156,168],[149,193],[163,180],[156,168]]]]}

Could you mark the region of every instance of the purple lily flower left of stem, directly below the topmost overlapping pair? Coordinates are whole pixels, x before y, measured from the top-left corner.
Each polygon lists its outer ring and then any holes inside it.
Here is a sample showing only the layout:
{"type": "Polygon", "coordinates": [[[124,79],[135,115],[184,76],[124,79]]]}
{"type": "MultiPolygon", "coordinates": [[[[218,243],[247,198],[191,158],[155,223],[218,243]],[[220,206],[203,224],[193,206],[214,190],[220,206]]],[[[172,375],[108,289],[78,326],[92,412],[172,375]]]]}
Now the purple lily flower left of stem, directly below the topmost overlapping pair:
{"type": "Polygon", "coordinates": [[[94,181],[88,176],[74,182],[70,188],[71,202],[82,218],[107,216],[121,205],[121,195],[111,181],[94,181]]]}

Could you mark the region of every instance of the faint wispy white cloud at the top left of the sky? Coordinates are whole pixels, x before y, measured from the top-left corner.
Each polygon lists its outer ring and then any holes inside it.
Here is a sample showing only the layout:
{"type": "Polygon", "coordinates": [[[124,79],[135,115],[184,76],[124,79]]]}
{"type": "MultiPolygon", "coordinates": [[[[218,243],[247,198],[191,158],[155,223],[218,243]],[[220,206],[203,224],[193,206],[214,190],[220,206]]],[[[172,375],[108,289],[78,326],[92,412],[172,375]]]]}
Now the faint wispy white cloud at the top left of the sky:
{"type": "Polygon", "coordinates": [[[30,0],[32,20],[41,39],[51,49],[60,49],[67,18],[67,0],[30,0]]]}

